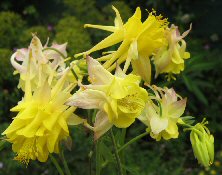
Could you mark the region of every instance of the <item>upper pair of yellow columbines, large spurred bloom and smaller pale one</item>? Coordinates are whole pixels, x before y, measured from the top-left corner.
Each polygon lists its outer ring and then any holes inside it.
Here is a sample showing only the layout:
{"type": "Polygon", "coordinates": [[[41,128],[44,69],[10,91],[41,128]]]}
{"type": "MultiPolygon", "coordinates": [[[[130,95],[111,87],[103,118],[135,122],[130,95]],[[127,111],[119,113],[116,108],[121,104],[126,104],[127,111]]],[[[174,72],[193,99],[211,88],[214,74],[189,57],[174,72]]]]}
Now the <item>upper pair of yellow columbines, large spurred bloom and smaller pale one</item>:
{"type": "Polygon", "coordinates": [[[151,59],[154,60],[156,76],[159,73],[178,74],[184,69],[184,59],[189,58],[190,55],[186,52],[183,38],[190,30],[180,36],[178,28],[174,25],[169,28],[167,19],[161,15],[157,16],[154,10],[142,22],[139,7],[124,24],[119,11],[115,7],[113,10],[116,13],[115,26],[85,25],[85,27],[106,30],[112,34],[90,50],[76,54],[76,57],[88,55],[121,42],[116,51],[105,52],[104,56],[97,59],[104,62],[105,69],[112,71],[116,67],[116,62],[119,65],[125,62],[123,71],[126,72],[131,63],[133,73],[140,75],[147,83],[151,80],[151,59]]]}

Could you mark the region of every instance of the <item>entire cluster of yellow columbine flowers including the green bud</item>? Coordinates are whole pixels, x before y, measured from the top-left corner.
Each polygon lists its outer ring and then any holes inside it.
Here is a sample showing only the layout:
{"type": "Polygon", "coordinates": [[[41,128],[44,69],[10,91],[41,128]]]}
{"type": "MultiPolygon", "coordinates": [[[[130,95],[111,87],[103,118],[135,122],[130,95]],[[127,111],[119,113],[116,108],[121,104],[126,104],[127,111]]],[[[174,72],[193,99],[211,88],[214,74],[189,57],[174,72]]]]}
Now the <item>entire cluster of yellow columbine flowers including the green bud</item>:
{"type": "Polygon", "coordinates": [[[184,70],[184,61],[190,54],[183,38],[191,28],[180,35],[177,26],[168,27],[167,19],[157,16],[154,10],[142,22],[140,8],[124,24],[119,11],[115,7],[113,10],[114,26],[85,25],[112,32],[90,50],[75,55],[86,59],[70,62],[66,43],[42,46],[35,35],[28,49],[19,49],[12,55],[24,98],[11,109],[18,114],[3,135],[12,143],[15,159],[25,164],[30,159],[45,162],[50,153],[59,153],[60,141],[69,137],[69,124],[83,124],[97,140],[113,125],[127,128],[138,119],[157,141],[178,138],[178,124],[188,127],[196,158],[209,166],[214,159],[214,139],[206,123],[187,124],[181,117],[187,99],[173,88],[151,85],[151,64],[155,77],[184,70]],[[121,44],[116,51],[104,52],[97,59],[89,56],[118,43],[121,44]],[[88,85],[83,81],[85,75],[88,85]],[[74,92],[77,85],[80,88],[74,92]],[[93,126],[74,114],[77,107],[97,109],[93,126]]]}

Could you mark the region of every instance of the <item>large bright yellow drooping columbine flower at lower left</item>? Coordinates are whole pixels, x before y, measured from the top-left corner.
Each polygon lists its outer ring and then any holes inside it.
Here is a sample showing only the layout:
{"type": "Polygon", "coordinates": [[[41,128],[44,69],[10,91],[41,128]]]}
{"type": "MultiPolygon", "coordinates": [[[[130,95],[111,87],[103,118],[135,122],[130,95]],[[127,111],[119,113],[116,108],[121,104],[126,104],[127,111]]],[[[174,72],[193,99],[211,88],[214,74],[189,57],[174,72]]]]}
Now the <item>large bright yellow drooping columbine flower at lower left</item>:
{"type": "Polygon", "coordinates": [[[28,164],[38,159],[45,162],[49,153],[59,152],[59,142],[69,136],[67,120],[75,107],[64,105],[74,85],[65,85],[69,70],[50,87],[47,81],[32,93],[30,74],[25,82],[25,96],[11,111],[18,112],[2,133],[12,143],[15,160],[28,164]]]}

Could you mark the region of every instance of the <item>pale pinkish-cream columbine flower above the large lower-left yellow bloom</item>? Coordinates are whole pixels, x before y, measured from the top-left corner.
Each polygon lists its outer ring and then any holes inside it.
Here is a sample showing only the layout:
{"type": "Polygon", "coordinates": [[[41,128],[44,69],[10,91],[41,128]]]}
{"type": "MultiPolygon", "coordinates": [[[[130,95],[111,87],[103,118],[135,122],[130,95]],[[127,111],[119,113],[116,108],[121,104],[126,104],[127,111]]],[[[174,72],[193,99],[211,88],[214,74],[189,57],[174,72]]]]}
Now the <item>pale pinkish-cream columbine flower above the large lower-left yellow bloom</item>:
{"type": "Polygon", "coordinates": [[[48,79],[49,84],[57,72],[65,70],[66,65],[64,58],[61,56],[67,56],[66,45],[53,44],[50,48],[42,46],[39,38],[33,36],[32,41],[28,49],[18,49],[11,56],[12,66],[16,69],[15,73],[20,74],[19,87],[25,90],[25,81],[27,79],[28,69],[30,70],[30,81],[32,84],[32,91],[41,86],[41,83],[48,79]],[[43,51],[43,49],[46,49],[43,51]],[[54,49],[54,50],[51,50],[54,49]],[[56,52],[59,51],[60,53],[56,52]]]}

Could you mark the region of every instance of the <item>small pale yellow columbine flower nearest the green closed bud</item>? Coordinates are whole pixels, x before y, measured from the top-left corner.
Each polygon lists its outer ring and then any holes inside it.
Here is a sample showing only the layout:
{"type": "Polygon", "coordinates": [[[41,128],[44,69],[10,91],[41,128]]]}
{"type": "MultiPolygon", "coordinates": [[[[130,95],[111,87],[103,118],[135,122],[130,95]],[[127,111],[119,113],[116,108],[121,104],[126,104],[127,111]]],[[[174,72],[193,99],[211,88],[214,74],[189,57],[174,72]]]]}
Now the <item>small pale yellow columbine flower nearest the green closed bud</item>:
{"type": "Polygon", "coordinates": [[[154,86],[152,89],[155,96],[150,96],[139,120],[149,127],[151,137],[157,141],[162,137],[166,140],[177,138],[177,122],[184,113],[186,99],[178,100],[178,95],[172,88],[154,86]]]}

